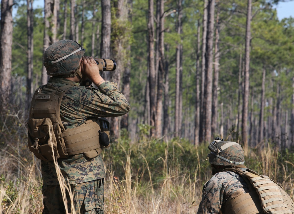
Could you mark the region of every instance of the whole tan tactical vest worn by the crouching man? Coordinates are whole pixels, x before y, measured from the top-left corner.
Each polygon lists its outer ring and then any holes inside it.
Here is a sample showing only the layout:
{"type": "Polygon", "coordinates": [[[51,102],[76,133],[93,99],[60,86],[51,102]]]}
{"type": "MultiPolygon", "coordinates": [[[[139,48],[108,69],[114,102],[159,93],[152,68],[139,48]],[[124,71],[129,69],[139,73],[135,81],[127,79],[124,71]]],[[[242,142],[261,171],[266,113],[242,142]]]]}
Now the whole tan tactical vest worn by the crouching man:
{"type": "Polygon", "coordinates": [[[225,204],[224,213],[232,214],[286,214],[294,213],[294,202],[283,188],[268,176],[247,169],[228,168],[240,174],[248,183],[249,193],[235,192],[225,204]],[[257,193],[257,194],[256,194],[257,193]]]}

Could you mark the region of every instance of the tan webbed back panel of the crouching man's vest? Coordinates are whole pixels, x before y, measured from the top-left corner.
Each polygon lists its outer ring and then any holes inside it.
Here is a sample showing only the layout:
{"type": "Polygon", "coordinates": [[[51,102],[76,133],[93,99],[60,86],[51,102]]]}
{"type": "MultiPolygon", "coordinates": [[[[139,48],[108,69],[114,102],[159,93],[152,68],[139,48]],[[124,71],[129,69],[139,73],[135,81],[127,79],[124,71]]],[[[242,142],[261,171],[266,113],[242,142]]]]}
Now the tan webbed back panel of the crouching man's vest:
{"type": "MultiPolygon", "coordinates": [[[[290,214],[294,213],[294,202],[283,188],[268,176],[247,169],[245,172],[237,168],[229,168],[226,171],[233,171],[240,174],[245,181],[249,181],[258,197],[262,210],[266,214],[290,214]]],[[[241,197],[241,196],[238,196],[241,197]]],[[[237,198],[235,198],[237,199],[237,198]]],[[[234,200],[235,200],[234,199],[234,200]]],[[[234,213],[234,212],[233,212],[234,213]]]]}

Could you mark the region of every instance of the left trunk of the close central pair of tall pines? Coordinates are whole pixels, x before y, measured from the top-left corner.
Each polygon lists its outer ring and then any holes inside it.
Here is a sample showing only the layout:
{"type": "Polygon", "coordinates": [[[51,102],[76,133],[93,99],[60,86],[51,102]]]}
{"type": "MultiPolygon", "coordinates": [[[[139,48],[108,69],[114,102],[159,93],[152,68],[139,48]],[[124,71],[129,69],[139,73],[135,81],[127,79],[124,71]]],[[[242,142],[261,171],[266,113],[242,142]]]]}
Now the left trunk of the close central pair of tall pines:
{"type": "Polygon", "coordinates": [[[156,72],[154,62],[154,8],[153,0],[148,0],[148,65],[149,65],[149,99],[150,99],[150,135],[155,136],[156,120],[156,72]]]}

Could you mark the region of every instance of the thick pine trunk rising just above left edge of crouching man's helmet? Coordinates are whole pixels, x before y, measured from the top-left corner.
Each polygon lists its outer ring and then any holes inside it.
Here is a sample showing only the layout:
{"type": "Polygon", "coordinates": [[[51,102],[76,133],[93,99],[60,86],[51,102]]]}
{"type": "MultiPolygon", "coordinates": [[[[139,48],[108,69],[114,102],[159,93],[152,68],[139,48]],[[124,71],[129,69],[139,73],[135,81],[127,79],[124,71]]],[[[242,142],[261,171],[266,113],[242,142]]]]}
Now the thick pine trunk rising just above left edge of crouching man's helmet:
{"type": "Polygon", "coordinates": [[[215,0],[208,0],[208,27],[206,36],[205,53],[205,88],[204,88],[204,108],[205,108],[205,140],[211,140],[211,107],[212,107],[212,73],[213,73],[213,26],[214,26],[215,0]]]}

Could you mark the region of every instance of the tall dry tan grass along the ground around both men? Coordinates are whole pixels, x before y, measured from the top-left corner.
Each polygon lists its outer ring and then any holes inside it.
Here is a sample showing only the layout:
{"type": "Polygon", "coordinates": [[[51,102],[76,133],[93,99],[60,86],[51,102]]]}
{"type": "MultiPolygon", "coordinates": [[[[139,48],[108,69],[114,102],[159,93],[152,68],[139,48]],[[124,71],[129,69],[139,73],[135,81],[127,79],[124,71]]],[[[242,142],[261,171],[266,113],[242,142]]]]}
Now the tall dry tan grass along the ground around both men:
{"type": "MultiPolygon", "coordinates": [[[[13,150],[16,152],[16,150],[13,150]]],[[[152,168],[145,156],[141,158],[145,162],[146,173],[149,180],[140,182],[142,174],[138,174],[131,165],[132,150],[124,150],[126,158],[121,159],[124,171],[123,180],[118,180],[111,163],[105,163],[107,169],[105,182],[105,213],[108,214],[162,214],[162,213],[196,213],[201,201],[203,183],[210,177],[211,172],[200,176],[201,160],[195,166],[192,174],[181,171],[177,167],[168,167],[168,143],[162,161],[163,179],[156,181],[152,178],[152,168]],[[156,186],[156,187],[155,187],[156,186]]],[[[270,175],[273,178],[283,178],[282,185],[293,198],[293,170],[287,174],[287,167],[294,164],[285,161],[278,163],[279,150],[264,147],[256,153],[249,152],[251,158],[260,166],[260,173],[270,175]]],[[[197,156],[202,156],[201,151],[197,156]]],[[[56,165],[57,166],[57,165],[56,165]]],[[[58,167],[57,167],[58,168],[58,167]]],[[[43,209],[41,195],[41,178],[39,161],[33,163],[16,153],[0,151],[0,213],[22,214],[41,213],[43,209]]],[[[61,175],[59,173],[59,175],[61,175]]],[[[65,184],[64,178],[59,177],[64,193],[71,191],[65,184]]],[[[66,204],[66,203],[65,203],[66,204]]],[[[73,205],[72,205],[73,207],[73,205]]],[[[74,211],[72,212],[74,213],[74,211]]]]}

